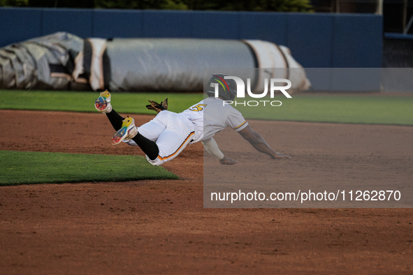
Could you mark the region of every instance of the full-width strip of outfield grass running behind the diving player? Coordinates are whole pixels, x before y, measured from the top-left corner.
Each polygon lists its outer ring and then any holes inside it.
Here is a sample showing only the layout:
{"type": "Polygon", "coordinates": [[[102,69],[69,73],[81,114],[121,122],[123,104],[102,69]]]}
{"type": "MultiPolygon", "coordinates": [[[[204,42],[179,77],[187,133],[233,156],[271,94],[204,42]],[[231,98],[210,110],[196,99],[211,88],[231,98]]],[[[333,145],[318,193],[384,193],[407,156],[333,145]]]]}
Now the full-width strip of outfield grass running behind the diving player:
{"type": "MultiPolygon", "coordinates": [[[[75,91],[0,91],[0,109],[56,110],[96,112],[97,92],[75,91]]],[[[148,99],[160,102],[168,98],[168,110],[182,112],[198,103],[203,94],[188,93],[112,93],[112,105],[121,113],[155,114],[147,110],[148,99]]],[[[237,107],[246,119],[317,121],[353,124],[413,125],[412,96],[297,94],[293,98],[277,96],[265,100],[282,101],[280,107],[237,107]]],[[[261,100],[249,98],[245,101],[261,100]]],[[[237,101],[241,101],[239,98],[237,101]]],[[[242,99],[244,101],[244,99],[242,99]]]]}

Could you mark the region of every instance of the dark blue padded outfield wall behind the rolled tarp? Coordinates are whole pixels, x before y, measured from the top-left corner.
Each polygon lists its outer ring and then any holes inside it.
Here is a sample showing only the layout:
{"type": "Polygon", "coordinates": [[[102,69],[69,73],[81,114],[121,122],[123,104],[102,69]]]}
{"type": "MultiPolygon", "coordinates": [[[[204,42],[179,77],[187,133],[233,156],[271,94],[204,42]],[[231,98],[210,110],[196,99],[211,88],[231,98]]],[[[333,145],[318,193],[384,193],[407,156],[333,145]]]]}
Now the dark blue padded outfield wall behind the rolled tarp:
{"type": "Polygon", "coordinates": [[[261,39],[305,68],[382,67],[382,16],[180,10],[0,8],[0,47],[56,31],[82,38],[261,39]]]}

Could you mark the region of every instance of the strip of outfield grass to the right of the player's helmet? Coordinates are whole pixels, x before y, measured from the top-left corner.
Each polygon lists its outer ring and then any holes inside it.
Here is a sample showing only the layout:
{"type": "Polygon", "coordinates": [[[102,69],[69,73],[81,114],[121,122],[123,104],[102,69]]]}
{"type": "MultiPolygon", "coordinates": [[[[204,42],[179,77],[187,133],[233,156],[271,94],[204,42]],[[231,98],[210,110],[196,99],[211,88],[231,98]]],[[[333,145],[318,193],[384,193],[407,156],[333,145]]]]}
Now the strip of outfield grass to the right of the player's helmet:
{"type": "MultiPolygon", "coordinates": [[[[261,98],[245,101],[256,99],[261,98]]],[[[237,109],[248,119],[413,125],[412,96],[293,94],[292,98],[279,96],[265,100],[281,101],[282,105],[238,105],[237,109]]]]}

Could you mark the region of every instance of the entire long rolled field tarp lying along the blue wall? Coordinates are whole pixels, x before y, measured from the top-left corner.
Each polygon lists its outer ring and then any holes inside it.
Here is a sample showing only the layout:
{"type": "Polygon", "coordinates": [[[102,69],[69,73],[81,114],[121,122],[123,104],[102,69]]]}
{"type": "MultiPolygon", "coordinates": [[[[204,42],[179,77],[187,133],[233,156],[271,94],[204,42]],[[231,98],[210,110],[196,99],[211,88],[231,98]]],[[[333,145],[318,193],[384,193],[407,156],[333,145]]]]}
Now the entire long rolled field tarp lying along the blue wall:
{"type": "Polygon", "coordinates": [[[283,68],[256,75],[310,87],[289,49],[262,40],[86,38],[59,32],[0,49],[1,89],[203,91],[204,68],[283,68]]]}

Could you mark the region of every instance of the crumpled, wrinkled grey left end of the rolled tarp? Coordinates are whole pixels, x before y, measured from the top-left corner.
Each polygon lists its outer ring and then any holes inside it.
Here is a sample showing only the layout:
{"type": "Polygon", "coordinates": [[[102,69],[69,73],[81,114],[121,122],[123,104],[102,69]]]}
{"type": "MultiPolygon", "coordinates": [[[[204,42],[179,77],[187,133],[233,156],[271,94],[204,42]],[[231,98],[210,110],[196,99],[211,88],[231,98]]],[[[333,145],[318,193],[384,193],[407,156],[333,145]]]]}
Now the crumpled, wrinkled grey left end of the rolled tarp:
{"type": "Polygon", "coordinates": [[[57,33],[0,49],[1,89],[70,89],[83,39],[57,33]]]}

